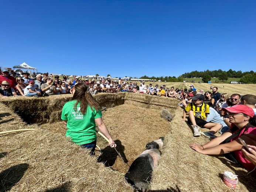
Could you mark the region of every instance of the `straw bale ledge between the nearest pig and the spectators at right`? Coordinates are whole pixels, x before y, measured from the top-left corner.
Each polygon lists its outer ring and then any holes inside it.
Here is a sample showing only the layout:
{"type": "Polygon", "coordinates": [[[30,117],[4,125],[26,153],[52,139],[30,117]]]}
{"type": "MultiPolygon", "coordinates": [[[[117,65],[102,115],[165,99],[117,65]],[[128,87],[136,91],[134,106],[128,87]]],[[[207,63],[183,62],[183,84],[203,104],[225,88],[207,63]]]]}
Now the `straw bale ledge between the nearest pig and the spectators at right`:
{"type": "MultiPolygon", "coordinates": [[[[180,121],[182,110],[171,123],[171,132],[165,136],[158,167],[154,170],[151,189],[177,189],[180,191],[233,191],[222,181],[224,171],[238,175],[235,191],[254,191],[255,178],[246,176],[247,171],[219,155],[203,155],[189,147],[191,143],[204,144],[209,140],[193,137],[192,127],[180,121]]],[[[201,131],[206,131],[202,129],[201,131]]]]}

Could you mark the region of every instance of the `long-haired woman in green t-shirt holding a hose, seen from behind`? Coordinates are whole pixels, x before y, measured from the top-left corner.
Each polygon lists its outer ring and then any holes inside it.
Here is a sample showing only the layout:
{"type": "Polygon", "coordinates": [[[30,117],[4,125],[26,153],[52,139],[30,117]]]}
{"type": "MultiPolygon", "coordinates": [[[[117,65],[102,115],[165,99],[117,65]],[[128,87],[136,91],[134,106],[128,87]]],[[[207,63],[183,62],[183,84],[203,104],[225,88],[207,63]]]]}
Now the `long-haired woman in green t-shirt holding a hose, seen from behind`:
{"type": "Polygon", "coordinates": [[[110,147],[116,147],[102,120],[100,109],[99,103],[89,92],[89,87],[85,83],[77,83],[74,86],[71,101],[65,103],[61,114],[61,119],[68,128],[66,136],[82,148],[91,149],[91,155],[94,154],[96,147],[95,122],[100,131],[109,139],[110,147]]]}

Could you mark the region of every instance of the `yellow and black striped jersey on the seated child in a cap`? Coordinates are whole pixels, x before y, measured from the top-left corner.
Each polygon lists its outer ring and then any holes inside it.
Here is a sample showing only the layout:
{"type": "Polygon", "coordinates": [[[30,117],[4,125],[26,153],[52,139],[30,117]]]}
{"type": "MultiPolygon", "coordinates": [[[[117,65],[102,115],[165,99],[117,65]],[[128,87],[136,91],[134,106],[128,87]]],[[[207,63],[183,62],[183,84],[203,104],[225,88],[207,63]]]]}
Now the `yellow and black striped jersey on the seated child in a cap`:
{"type": "Polygon", "coordinates": [[[192,102],[188,104],[187,107],[185,107],[185,112],[189,112],[189,111],[193,111],[195,117],[206,120],[205,114],[210,113],[210,107],[208,104],[205,104],[205,103],[202,103],[201,106],[195,106],[195,104],[192,102]]]}

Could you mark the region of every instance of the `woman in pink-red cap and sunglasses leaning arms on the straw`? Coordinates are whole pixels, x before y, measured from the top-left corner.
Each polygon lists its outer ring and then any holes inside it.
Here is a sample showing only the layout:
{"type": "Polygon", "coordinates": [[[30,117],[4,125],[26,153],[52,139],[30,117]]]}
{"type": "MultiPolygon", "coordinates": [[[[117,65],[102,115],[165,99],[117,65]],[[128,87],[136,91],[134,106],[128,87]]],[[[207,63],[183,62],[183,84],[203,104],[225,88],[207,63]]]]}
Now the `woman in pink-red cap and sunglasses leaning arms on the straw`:
{"type": "MultiPolygon", "coordinates": [[[[229,108],[222,108],[222,110],[228,112],[229,122],[232,123],[230,130],[204,145],[193,143],[190,144],[190,147],[206,155],[225,154],[226,158],[238,165],[242,165],[248,171],[254,170],[255,165],[242,155],[241,149],[243,145],[238,140],[238,138],[246,140],[247,138],[245,136],[249,133],[256,135],[256,116],[253,109],[240,104],[229,108]]],[[[253,145],[250,140],[248,140],[247,144],[253,145]]],[[[256,175],[256,171],[253,174],[256,175]]]]}

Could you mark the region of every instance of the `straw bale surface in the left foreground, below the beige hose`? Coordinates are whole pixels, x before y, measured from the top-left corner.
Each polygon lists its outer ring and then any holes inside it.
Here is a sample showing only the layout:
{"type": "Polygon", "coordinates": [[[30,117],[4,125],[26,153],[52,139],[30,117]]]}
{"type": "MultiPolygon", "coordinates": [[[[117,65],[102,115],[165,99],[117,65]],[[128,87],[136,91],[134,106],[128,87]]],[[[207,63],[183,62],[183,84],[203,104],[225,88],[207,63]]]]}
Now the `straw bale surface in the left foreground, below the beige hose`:
{"type": "Polygon", "coordinates": [[[88,150],[48,130],[1,137],[1,154],[1,190],[132,191],[123,174],[97,163],[88,150]]]}

